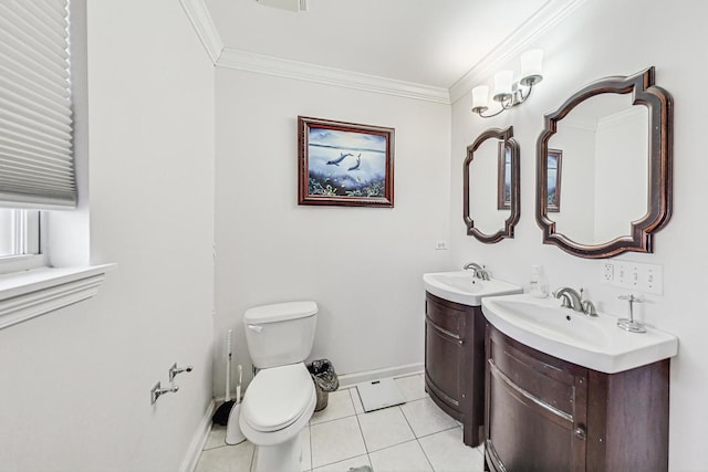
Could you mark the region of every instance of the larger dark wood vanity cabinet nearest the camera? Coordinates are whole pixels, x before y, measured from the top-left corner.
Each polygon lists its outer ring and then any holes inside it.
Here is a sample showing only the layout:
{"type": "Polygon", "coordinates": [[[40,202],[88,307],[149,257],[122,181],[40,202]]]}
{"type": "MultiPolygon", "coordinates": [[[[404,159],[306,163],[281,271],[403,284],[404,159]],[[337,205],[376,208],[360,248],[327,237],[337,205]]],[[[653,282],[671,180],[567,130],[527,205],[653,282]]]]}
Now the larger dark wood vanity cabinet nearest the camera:
{"type": "Polygon", "coordinates": [[[668,470],[668,359],[603,374],[491,324],[486,353],[486,470],[668,470]]]}

